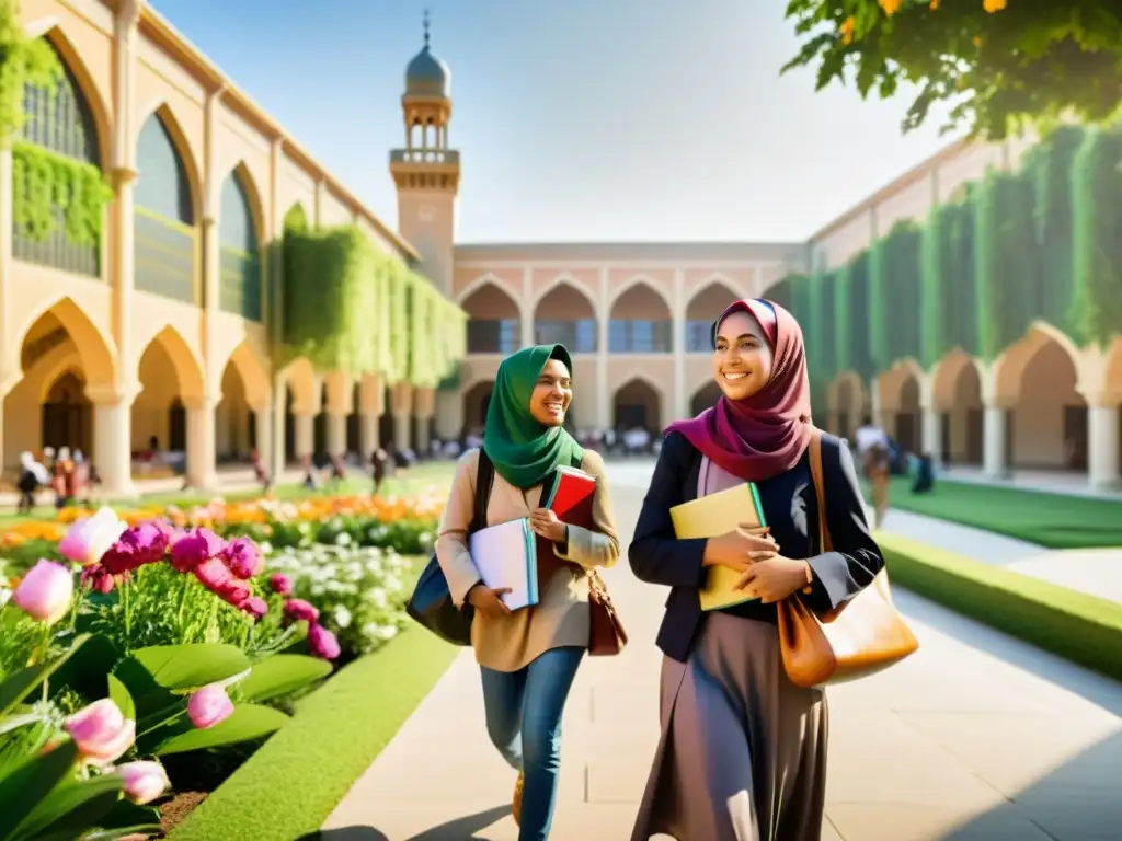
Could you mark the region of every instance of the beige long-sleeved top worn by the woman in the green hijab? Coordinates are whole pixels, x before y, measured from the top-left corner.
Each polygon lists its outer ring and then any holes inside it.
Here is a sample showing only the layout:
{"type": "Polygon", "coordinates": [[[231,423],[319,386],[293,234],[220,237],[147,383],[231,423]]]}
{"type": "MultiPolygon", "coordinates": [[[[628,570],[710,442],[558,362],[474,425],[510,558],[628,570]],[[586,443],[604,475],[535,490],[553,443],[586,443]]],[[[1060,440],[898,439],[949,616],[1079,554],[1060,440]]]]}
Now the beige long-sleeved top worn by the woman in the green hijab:
{"type": "MultiPolygon", "coordinates": [[[[436,538],[436,560],[457,607],[479,583],[479,571],[468,553],[468,526],[475,512],[476,469],[479,451],[469,450],[456,468],[456,479],[444,508],[436,538]]],[[[505,617],[477,612],[471,623],[471,645],[479,665],[496,672],[517,672],[543,651],[563,646],[588,647],[588,575],[597,566],[611,566],[619,557],[619,539],[608,501],[604,460],[585,451],[581,468],[596,477],[592,519],[596,530],[569,526],[568,555],[554,546],[557,562],[539,562],[539,603],[505,617]]],[[[495,473],[487,505],[487,525],[528,517],[537,507],[542,486],[519,490],[495,473]]]]}

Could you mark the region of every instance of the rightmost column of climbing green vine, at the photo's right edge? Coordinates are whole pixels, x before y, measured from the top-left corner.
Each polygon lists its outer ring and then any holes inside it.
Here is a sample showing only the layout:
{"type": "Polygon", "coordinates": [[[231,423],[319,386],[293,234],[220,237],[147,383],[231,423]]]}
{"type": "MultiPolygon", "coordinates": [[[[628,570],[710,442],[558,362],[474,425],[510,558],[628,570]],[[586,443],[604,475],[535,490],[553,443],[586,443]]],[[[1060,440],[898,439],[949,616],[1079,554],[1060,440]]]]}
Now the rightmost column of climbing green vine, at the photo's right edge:
{"type": "Polygon", "coordinates": [[[1106,344],[1122,327],[1122,127],[1088,129],[1072,173],[1073,327],[1106,344]]]}

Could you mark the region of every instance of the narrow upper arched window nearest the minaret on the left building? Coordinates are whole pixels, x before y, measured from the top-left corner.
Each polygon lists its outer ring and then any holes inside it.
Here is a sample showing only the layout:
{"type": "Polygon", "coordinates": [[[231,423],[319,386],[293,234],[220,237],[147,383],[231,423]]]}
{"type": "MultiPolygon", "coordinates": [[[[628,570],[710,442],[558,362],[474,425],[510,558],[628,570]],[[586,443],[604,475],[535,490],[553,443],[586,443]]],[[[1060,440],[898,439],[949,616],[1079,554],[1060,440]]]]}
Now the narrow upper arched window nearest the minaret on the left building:
{"type": "Polygon", "coordinates": [[[261,260],[257,225],[249,203],[245,175],[230,173],[222,185],[219,225],[222,275],[219,306],[249,321],[261,321],[261,260]]]}

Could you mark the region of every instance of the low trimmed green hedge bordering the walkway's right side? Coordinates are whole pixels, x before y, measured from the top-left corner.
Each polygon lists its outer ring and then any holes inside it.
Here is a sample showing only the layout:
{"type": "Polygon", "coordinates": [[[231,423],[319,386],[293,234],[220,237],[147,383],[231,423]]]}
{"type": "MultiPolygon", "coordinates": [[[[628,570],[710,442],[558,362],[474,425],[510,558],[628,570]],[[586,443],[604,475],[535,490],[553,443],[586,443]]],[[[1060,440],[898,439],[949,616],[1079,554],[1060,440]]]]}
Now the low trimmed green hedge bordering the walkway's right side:
{"type": "Polygon", "coordinates": [[[907,537],[876,542],[900,586],[1122,681],[1122,604],[907,537]]]}

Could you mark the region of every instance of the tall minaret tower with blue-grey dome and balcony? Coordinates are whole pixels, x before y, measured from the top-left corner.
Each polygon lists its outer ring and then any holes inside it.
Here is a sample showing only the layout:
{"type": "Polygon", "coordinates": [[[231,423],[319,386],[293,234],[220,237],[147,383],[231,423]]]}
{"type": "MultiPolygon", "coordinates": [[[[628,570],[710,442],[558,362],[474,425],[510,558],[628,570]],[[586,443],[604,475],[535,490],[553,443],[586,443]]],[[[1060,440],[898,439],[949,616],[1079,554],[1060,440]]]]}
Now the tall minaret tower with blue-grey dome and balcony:
{"type": "Polygon", "coordinates": [[[389,154],[389,172],[397,185],[397,229],[421,252],[423,274],[448,296],[460,188],[460,154],[448,148],[451,82],[448,65],[429,49],[425,11],[424,47],[405,68],[405,148],[389,154]]]}

